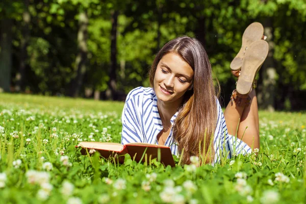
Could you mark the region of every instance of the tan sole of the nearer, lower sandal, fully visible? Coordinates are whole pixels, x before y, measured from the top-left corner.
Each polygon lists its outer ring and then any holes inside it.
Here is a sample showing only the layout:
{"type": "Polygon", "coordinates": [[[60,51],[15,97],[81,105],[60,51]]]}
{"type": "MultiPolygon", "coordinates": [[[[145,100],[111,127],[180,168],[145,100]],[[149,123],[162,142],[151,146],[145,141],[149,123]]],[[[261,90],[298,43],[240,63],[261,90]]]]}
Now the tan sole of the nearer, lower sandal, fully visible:
{"type": "Polygon", "coordinates": [[[247,48],[237,81],[238,93],[248,94],[250,92],[255,75],[267,58],[268,52],[269,44],[265,40],[255,41],[247,48]]]}

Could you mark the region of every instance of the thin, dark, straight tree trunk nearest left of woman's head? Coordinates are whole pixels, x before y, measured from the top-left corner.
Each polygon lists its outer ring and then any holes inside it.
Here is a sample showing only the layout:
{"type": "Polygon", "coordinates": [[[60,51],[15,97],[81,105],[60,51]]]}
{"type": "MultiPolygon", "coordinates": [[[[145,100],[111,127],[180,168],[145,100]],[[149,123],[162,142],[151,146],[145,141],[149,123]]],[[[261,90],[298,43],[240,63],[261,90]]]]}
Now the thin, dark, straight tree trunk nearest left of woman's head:
{"type": "Polygon", "coordinates": [[[110,80],[108,82],[108,90],[106,91],[106,97],[108,100],[115,100],[117,93],[116,84],[116,69],[117,69],[117,24],[118,24],[118,11],[111,12],[111,63],[110,63],[110,80]]]}

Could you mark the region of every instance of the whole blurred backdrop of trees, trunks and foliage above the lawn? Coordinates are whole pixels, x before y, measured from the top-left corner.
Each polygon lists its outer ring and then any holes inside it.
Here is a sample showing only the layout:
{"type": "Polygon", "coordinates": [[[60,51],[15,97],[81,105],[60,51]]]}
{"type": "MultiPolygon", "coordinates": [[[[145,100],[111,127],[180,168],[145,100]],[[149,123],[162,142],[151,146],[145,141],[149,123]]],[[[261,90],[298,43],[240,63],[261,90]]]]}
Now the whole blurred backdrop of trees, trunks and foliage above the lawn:
{"type": "Polygon", "coordinates": [[[254,21],[270,46],[260,108],[306,109],[304,0],[2,0],[0,89],[124,100],[149,86],[158,50],[188,35],[205,46],[226,103],[235,88],[230,63],[254,21]]]}

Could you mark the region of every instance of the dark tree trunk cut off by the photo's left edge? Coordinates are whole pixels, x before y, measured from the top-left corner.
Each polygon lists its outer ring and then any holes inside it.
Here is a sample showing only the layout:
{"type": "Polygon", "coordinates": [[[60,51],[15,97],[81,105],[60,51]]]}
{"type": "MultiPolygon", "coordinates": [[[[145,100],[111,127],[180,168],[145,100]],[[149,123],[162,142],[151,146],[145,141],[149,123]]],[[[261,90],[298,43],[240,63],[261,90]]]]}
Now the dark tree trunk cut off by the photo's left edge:
{"type": "Polygon", "coordinates": [[[13,19],[0,20],[0,92],[10,92],[13,19]]]}

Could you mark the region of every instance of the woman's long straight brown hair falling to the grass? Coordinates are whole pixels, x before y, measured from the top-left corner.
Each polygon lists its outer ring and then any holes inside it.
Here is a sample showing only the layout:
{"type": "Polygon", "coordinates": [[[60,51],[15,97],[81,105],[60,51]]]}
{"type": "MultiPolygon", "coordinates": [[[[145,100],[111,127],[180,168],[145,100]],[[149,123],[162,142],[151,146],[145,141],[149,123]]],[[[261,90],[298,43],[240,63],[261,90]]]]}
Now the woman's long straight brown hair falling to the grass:
{"type": "Polygon", "coordinates": [[[185,93],[175,119],[173,137],[180,154],[184,149],[181,155],[183,163],[189,164],[191,156],[198,156],[201,163],[210,163],[214,157],[213,138],[218,116],[211,64],[198,40],[187,36],[175,38],[163,46],[152,63],[149,70],[152,87],[159,61],[171,52],[181,56],[194,71],[193,84],[185,93]]]}

